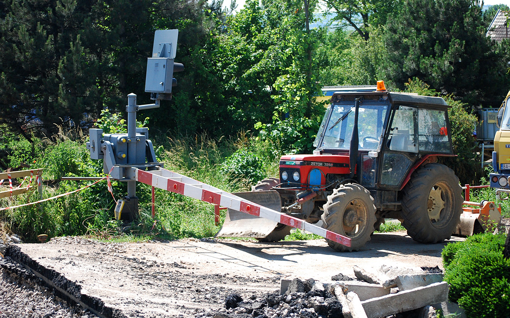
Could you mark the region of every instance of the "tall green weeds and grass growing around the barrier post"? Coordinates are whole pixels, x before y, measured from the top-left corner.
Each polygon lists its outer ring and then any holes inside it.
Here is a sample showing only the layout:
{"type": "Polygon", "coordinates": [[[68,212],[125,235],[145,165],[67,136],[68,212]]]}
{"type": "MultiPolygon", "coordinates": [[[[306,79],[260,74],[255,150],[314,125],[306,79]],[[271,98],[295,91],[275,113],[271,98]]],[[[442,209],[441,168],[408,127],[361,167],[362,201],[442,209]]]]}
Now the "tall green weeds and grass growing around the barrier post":
{"type": "MultiPolygon", "coordinates": [[[[109,126],[115,121],[110,121],[109,126]]],[[[122,125],[122,123],[119,123],[122,125]]],[[[110,127],[111,128],[111,127],[110,127]]],[[[40,141],[44,145],[35,158],[37,167],[44,167],[43,179],[56,180],[43,187],[43,197],[51,197],[79,189],[90,183],[85,181],[59,181],[64,176],[103,176],[103,162],[91,160],[86,150],[85,136],[79,130],[63,129],[51,139],[40,141]]],[[[246,191],[253,180],[247,172],[231,174],[225,168],[226,158],[242,150],[256,156],[261,163],[261,178],[277,176],[279,154],[270,141],[260,142],[244,132],[235,138],[213,139],[202,134],[180,138],[156,136],[158,160],[165,168],[205,182],[228,192],[246,191]]],[[[25,153],[25,152],[20,152],[25,153]]],[[[242,158],[240,160],[243,160],[242,158]]],[[[115,198],[123,197],[126,185],[113,181],[115,198]]],[[[162,235],[168,238],[211,237],[219,230],[214,224],[214,206],[200,200],[156,189],[156,218],[151,216],[151,188],[137,184],[140,222],[134,224],[131,233],[162,235]]],[[[1,199],[0,205],[13,206],[35,201],[36,192],[1,199]]],[[[64,235],[111,234],[118,225],[113,220],[112,196],[106,182],[100,182],[78,193],[46,201],[37,206],[28,206],[0,212],[0,222],[26,242],[36,242],[37,235],[50,237],[64,235]]],[[[224,212],[222,210],[222,214],[224,212]]]]}

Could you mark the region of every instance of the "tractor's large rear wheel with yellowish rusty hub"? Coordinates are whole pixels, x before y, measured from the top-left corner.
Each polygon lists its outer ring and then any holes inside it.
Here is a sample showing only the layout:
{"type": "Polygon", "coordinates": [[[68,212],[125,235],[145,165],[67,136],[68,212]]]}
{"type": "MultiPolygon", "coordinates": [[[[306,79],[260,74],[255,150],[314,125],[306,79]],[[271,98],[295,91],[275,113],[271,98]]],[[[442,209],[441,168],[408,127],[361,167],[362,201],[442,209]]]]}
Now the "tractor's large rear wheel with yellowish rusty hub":
{"type": "Polygon", "coordinates": [[[462,188],[452,169],[429,163],[413,172],[402,197],[402,225],[420,243],[449,239],[462,214],[462,188]]]}

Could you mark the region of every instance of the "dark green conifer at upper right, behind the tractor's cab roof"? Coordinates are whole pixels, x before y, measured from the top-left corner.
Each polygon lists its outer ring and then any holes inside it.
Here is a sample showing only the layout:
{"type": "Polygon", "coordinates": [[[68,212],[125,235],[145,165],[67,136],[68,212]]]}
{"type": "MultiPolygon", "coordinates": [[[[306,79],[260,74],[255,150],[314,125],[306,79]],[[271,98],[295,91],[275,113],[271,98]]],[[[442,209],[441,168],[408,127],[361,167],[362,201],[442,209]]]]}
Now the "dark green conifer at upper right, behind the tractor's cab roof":
{"type": "Polygon", "coordinates": [[[485,33],[476,0],[406,0],[387,24],[387,77],[400,88],[417,77],[465,103],[496,105],[510,77],[485,33]]]}

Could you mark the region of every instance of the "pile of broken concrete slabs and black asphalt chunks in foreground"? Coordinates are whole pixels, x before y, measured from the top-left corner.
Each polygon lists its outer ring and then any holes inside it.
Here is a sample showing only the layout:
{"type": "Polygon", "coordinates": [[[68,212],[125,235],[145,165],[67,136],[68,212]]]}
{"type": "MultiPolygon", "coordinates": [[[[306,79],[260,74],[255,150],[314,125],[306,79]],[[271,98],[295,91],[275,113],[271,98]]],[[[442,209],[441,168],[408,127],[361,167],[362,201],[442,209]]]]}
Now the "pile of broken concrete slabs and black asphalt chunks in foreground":
{"type": "MultiPolygon", "coordinates": [[[[213,318],[432,318],[462,314],[448,303],[448,283],[439,268],[399,269],[354,267],[357,280],[338,274],[334,283],[310,278],[282,280],[280,293],[243,300],[232,294],[218,312],[196,312],[213,318]]],[[[461,315],[462,316],[462,315],[461,315]]]]}

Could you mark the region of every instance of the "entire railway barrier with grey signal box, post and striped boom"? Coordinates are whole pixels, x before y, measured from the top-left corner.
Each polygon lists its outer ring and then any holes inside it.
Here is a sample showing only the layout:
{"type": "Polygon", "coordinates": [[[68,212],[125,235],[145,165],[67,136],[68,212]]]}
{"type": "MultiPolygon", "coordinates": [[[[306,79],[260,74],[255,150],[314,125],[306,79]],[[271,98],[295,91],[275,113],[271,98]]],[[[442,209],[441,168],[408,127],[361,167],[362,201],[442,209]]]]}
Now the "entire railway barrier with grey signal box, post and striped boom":
{"type": "Polygon", "coordinates": [[[103,159],[103,172],[115,180],[127,183],[127,196],[117,202],[118,207],[123,204],[120,219],[125,222],[138,219],[138,197],[136,196],[138,181],[244,212],[252,217],[307,230],[328,240],[350,246],[351,240],[348,237],[164,169],[163,164],[157,162],[154,147],[148,138],[148,128],[136,128],[136,112],[158,108],[161,100],[171,99],[172,86],[176,85],[176,80],[172,77],[173,72],[184,69],[182,64],[173,62],[177,35],[177,30],[156,31],[152,57],[147,59],[145,78],[145,92],[151,93],[150,98],[155,100],[155,103],[137,105],[136,95],[127,95],[127,134],[103,134],[102,129],[90,129],[89,132],[90,140],[87,142],[87,149],[90,152],[90,158],[103,159]]]}

